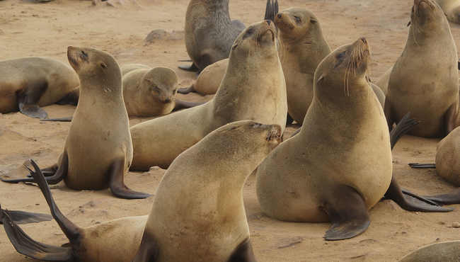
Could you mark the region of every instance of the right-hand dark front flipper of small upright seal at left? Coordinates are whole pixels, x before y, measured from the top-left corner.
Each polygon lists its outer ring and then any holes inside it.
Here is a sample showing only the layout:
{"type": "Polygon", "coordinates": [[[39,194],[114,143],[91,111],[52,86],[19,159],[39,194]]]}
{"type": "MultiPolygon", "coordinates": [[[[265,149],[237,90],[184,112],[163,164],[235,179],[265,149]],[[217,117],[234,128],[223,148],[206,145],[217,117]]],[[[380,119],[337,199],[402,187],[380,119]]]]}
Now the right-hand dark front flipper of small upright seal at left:
{"type": "Polygon", "coordinates": [[[151,197],[149,194],[133,191],[125,185],[123,182],[123,178],[125,176],[124,166],[125,158],[115,160],[110,165],[110,190],[112,191],[113,195],[117,196],[118,198],[125,199],[140,199],[151,197]]]}

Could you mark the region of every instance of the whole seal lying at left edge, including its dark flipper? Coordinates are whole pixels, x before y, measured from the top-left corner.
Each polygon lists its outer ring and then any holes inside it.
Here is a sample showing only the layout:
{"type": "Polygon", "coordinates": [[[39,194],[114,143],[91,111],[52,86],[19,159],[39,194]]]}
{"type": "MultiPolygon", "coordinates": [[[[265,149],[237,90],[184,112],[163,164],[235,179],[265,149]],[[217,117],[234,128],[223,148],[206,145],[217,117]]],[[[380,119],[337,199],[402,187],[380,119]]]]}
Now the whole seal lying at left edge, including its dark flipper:
{"type": "Polygon", "coordinates": [[[21,111],[47,118],[41,106],[56,103],[79,86],[74,69],[56,59],[23,57],[0,62],[0,113],[21,111]]]}

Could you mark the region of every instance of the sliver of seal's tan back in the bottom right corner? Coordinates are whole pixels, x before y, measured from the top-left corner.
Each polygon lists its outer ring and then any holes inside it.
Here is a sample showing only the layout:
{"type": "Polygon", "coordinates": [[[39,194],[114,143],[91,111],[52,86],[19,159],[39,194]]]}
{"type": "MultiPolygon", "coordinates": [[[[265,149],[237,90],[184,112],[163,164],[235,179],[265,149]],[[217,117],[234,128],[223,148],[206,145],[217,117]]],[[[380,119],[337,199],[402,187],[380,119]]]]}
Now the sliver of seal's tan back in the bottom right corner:
{"type": "Polygon", "coordinates": [[[460,241],[446,241],[423,246],[398,262],[459,262],[460,241]]]}

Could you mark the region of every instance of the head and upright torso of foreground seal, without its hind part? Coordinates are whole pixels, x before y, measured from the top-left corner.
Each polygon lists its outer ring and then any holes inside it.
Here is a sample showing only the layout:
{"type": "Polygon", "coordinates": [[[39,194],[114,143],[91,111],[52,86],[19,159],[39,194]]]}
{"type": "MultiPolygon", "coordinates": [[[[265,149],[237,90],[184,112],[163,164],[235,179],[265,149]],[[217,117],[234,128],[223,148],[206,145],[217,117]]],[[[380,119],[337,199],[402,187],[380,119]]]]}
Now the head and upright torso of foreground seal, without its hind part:
{"type": "Polygon", "coordinates": [[[279,125],[239,121],[180,154],[161,178],[133,261],[233,261],[249,238],[244,183],[280,136],[279,125]]]}

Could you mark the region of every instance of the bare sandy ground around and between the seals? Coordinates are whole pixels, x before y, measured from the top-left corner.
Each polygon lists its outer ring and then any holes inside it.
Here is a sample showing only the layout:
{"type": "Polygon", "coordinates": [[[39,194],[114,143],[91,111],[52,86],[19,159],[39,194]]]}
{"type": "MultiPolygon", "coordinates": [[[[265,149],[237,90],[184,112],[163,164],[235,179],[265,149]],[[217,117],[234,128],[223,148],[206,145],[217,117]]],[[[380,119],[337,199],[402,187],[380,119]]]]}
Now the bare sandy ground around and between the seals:
{"type": "MultiPolygon", "coordinates": [[[[335,49],[359,37],[372,47],[372,80],[376,80],[397,59],[406,42],[410,21],[410,0],[280,0],[280,10],[304,6],[318,16],[330,47],[335,49]]],[[[91,1],[56,0],[33,4],[20,0],[0,1],[0,52],[2,59],[43,56],[67,62],[67,46],[96,47],[112,54],[120,64],[140,63],[170,67],[179,76],[181,87],[194,80],[195,73],[178,69],[179,59],[188,59],[184,40],[144,38],[155,29],[184,30],[188,0],[144,0],[139,5],[93,6],[91,1]]],[[[246,25],[263,18],[265,0],[231,0],[232,18],[246,25]]],[[[451,23],[460,42],[460,25],[451,23]]],[[[178,95],[187,101],[206,101],[196,94],[178,95]]],[[[47,106],[50,118],[72,115],[73,106],[47,106]]],[[[130,124],[145,118],[131,118],[130,124]]],[[[299,126],[287,127],[287,135],[299,126]]],[[[69,123],[43,123],[21,113],[0,114],[0,170],[20,173],[26,159],[40,167],[54,164],[64,148],[69,123]]],[[[393,150],[394,172],[402,186],[422,195],[454,189],[435,170],[415,170],[410,162],[433,162],[439,139],[405,136],[393,150]]],[[[133,190],[154,194],[165,170],[130,172],[125,183],[133,190]]],[[[118,217],[146,215],[152,198],[122,200],[110,190],[76,191],[64,183],[51,186],[54,199],[64,215],[80,227],[118,217]]],[[[422,213],[402,210],[390,200],[371,210],[371,224],[353,239],[324,241],[330,224],[290,223],[272,220],[263,214],[255,197],[255,177],[244,187],[244,200],[251,230],[251,242],[258,261],[397,261],[420,246],[460,239],[460,206],[449,213],[422,213]]],[[[35,186],[0,183],[1,207],[49,213],[45,199],[35,186]]],[[[33,239],[47,244],[64,244],[67,239],[56,222],[21,226],[33,239]]],[[[3,230],[0,231],[0,261],[31,261],[18,254],[3,230]]]]}

